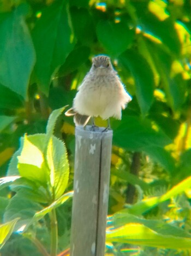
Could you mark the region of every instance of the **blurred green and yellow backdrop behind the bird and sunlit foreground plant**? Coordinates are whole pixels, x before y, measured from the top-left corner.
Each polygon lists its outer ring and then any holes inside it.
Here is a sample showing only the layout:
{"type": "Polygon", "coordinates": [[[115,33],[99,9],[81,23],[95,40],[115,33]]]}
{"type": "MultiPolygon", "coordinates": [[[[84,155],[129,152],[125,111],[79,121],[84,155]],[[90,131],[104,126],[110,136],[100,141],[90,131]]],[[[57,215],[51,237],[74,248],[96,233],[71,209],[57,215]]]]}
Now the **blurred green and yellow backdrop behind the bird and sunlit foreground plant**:
{"type": "MultiPolygon", "coordinates": [[[[191,236],[190,33],[189,0],[1,0],[0,177],[6,175],[21,136],[45,133],[52,110],[72,105],[91,58],[107,54],[133,96],[122,121],[111,118],[109,214],[133,204],[129,213],[163,220],[191,236]],[[185,180],[187,185],[180,189],[185,180]],[[161,197],[174,186],[178,191],[167,201],[136,210],[139,203],[161,197]]],[[[99,118],[96,123],[105,126],[99,118]]],[[[73,118],[59,118],[55,135],[67,147],[69,191],[73,118]]],[[[12,196],[8,189],[1,192],[1,223],[12,196]]],[[[58,235],[65,239],[59,252],[69,246],[71,202],[64,207],[57,209],[58,235]]],[[[39,240],[46,240],[43,232],[39,234],[39,240]]],[[[178,251],[161,249],[157,240],[154,247],[136,243],[132,252],[130,245],[117,242],[108,245],[108,255],[190,255],[190,248],[181,246],[178,251]]],[[[16,235],[2,250],[2,255],[38,255],[27,238],[16,235]]]]}

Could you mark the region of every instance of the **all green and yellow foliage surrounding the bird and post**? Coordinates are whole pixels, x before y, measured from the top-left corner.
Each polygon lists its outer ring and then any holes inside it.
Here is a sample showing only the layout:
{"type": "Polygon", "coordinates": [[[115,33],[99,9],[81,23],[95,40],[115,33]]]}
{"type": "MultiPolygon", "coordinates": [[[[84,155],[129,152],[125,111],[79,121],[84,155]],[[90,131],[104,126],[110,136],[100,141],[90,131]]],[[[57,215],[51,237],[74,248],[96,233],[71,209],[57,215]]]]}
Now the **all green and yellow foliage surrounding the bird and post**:
{"type": "Polygon", "coordinates": [[[2,255],[69,247],[74,124],[61,113],[100,53],[133,96],[111,120],[106,253],[190,254],[190,10],[178,0],[0,2],[2,255]]]}

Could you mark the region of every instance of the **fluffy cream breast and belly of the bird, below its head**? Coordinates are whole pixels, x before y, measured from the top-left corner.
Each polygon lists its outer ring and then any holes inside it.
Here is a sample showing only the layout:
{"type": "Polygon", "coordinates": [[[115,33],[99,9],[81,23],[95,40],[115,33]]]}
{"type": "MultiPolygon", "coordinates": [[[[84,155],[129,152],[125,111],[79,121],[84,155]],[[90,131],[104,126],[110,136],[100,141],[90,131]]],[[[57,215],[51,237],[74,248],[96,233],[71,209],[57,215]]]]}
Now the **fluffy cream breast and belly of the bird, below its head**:
{"type": "Polygon", "coordinates": [[[126,94],[117,76],[88,74],[74,98],[74,109],[81,115],[121,119],[121,108],[127,104],[126,94]]]}

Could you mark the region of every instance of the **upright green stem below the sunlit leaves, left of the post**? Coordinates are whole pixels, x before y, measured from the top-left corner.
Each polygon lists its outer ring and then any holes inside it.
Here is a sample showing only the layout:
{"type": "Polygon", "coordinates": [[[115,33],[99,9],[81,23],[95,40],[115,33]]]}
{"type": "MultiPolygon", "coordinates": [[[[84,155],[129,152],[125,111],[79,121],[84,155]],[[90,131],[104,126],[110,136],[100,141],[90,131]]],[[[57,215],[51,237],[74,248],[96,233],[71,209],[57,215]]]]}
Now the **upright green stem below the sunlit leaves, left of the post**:
{"type": "Polygon", "coordinates": [[[58,247],[58,224],[56,218],[56,210],[52,209],[50,213],[50,222],[51,222],[51,256],[57,255],[57,247],[58,247]]]}

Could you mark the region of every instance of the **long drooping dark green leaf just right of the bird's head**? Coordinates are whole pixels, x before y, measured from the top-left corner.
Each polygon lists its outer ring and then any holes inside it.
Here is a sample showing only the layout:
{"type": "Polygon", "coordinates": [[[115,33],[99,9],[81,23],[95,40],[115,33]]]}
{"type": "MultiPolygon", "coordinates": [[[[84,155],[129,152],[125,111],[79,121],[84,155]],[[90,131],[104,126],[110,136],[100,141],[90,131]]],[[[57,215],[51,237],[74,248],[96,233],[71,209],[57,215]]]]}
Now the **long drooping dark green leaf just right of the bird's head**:
{"type": "Polygon", "coordinates": [[[142,115],[150,110],[153,101],[154,75],[147,60],[134,50],[127,50],[119,57],[122,65],[135,79],[136,96],[142,115]]]}

